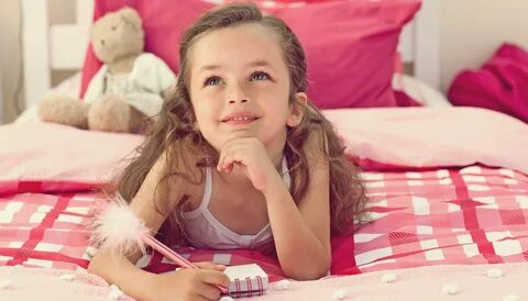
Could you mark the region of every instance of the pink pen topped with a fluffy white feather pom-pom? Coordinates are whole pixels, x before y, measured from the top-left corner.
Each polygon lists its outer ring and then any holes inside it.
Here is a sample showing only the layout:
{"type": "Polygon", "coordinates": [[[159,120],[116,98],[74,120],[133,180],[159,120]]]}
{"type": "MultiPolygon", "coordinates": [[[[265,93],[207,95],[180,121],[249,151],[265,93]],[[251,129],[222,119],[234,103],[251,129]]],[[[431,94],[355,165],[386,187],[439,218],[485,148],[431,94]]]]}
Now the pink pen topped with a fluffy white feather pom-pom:
{"type": "MultiPolygon", "coordinates": [[[[110,249],[111,256],[128,255],[138,248],[145,254],[145,245],[156,249],[165,257],[183,268],[197,269],[189,260],[157,241],[145,223],[130,209],[121,196],[116,196],[108,207],[97,214],[91,223],[90,241],[94,246],[110,249]]],[[[221,286],[217,288],[222,293],[228,290],[221,286]]]]}

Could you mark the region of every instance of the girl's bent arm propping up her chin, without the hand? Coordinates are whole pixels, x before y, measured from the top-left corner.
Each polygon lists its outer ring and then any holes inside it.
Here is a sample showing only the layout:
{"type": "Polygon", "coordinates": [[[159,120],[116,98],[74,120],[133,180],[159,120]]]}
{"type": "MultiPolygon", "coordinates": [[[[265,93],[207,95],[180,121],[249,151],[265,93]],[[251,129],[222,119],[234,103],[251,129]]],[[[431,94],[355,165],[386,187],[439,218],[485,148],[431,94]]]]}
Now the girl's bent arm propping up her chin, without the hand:
{"type": "Polygon", "coordinates": [[[283,271],[299,280],[323,277],[331,261],[330,174],[322,133],[310,134],[305,149],[311,180],[297,205],[278,175],[262,191],[283,271]]]}

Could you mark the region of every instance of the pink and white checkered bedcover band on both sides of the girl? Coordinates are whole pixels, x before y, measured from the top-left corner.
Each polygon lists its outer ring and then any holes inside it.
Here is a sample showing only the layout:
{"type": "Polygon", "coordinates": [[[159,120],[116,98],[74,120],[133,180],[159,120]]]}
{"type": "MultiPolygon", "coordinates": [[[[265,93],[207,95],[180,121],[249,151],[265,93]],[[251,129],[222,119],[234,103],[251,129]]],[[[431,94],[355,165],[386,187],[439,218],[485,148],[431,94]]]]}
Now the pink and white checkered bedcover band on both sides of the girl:
{"type": "MultiPolygon", "coordinates": [[[[364,172],[371,221],[332,239],[332,274],[443,264],[528,260],[528,177],[470,166],[419,172],[364,172]]],[[[0,266],[84,269],[94,249],[84,225],[103,197],[95,192],[0,196],[0,266]]],[[[258,263],[271,281],[275,258],[252,250],[178,250],[191,261],[258,263]]],[[[301,250],[299,250],[301,252],[301,250]]],[[[158,253],[151,271],[174,266],[158,253]]]]}

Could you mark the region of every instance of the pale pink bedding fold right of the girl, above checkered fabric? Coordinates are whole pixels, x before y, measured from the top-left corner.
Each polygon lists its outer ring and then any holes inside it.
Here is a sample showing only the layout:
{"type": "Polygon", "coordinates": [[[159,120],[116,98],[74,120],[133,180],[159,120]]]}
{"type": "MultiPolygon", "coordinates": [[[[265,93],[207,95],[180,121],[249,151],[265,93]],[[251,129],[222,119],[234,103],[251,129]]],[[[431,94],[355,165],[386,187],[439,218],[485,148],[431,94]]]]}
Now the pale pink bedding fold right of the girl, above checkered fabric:
{"type": "Polygon", "coordinates": [[[324,110],[360,159],[404,167],[475,163],[528,174],[528,125],[480,108],[377,108],[324,110]]]}

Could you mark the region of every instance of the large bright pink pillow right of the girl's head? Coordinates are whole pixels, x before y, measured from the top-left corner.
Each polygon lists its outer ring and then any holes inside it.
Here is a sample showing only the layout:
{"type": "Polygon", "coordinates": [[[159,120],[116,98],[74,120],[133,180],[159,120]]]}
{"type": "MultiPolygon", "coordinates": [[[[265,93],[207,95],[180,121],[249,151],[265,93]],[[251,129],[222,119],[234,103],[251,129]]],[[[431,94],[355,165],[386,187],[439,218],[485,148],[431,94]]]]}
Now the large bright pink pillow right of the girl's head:
{"type": "Polygon", "coordinates": [[[271,11],[302,43],[309,97],[319,108],[396,107],[391,82],[399,33],[420,3],[326,1],[271,11]]]}

